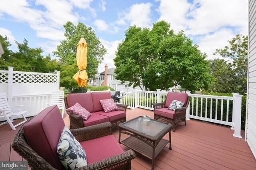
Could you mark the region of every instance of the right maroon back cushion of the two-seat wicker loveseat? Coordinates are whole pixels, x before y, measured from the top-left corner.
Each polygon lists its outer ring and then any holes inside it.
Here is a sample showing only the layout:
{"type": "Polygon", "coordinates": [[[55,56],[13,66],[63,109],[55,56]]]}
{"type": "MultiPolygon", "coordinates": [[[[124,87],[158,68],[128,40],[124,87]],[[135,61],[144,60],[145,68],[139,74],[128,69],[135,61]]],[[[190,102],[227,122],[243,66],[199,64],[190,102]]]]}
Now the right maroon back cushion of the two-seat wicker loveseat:
{"type": "Polygon", "coordinates": [[[102,111],[103,107],[100,100],[111,99],[110,92],[94,92],[92,93],[93,112],[102,111]]]}

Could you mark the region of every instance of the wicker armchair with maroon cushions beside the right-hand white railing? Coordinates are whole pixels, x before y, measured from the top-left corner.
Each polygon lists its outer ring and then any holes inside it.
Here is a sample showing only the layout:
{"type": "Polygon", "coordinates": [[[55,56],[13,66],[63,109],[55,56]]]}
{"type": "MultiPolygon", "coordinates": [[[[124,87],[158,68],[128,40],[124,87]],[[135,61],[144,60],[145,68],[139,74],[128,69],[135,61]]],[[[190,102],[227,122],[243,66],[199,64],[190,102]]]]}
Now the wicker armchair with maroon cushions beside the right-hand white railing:
{"type": "Polygon", "coordinates": [[[185,122],[186,125],[186,109],[190,102],[190,96],[186,93],[168,92],[166,99],[163,103],[154,103],[154,119],[158,121],[163,121],[172,124],[172,131],[175,132],[175,127],[181,123],[185,122]],[[184,102],[184,106],[175,111],[168,110],[172,100],[178,100],[184,102]]]}

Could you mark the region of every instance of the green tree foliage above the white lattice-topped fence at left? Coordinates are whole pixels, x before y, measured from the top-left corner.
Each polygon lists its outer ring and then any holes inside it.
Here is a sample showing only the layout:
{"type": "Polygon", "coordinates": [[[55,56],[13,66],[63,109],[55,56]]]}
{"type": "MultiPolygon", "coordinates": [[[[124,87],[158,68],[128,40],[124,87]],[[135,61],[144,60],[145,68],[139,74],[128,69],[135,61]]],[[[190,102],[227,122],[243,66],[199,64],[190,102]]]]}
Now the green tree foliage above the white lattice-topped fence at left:
{"type": "Polygon", "coordinates": [[[0,58],[0,69],[8,70],[8,66],[13,66],[16,71],[52,73],[59,68],[56,59],[52,60],[50,55],[42,56],[43,50],[40,47],[30,48],[26,39],[23,43],[16,41],[19,50],[17,52],[9,50],[11,44],[7,37],[0,35],[0,41],[4,48],[4,55],[0,58]]]}

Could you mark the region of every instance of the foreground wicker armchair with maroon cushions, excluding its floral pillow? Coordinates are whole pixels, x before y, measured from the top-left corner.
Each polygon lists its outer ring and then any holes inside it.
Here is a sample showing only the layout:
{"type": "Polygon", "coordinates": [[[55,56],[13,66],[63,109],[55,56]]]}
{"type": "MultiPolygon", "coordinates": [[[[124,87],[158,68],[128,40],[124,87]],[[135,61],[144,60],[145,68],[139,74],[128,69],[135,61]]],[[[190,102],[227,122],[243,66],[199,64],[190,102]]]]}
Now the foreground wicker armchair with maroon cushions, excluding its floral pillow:
{"type": "MultiPolygon", "coordinates": [[[[62,170],[57,145],[64,126],[58,107],[47,107],[20,127],[12,148],[28,160],[32,169],[62,170]]],[[[70,131],[87,156],[87,165],[77,170],[131,168],[135,154],[132,150],[124,152],[116,137],[111,135],[110,122],[70,131]]]]}

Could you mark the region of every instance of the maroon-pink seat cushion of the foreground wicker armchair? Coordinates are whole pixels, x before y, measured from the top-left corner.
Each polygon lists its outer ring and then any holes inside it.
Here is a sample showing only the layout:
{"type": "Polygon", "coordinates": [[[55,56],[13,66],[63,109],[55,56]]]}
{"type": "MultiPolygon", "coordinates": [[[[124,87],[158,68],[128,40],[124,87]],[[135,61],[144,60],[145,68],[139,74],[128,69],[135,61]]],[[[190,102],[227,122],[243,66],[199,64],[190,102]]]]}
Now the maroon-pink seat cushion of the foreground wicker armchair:
{"type": "Polygon", "coordinates": [[[80,143],[87,155],[87,164],[124,153],[114,135],[108,135],[80,143]]]}

